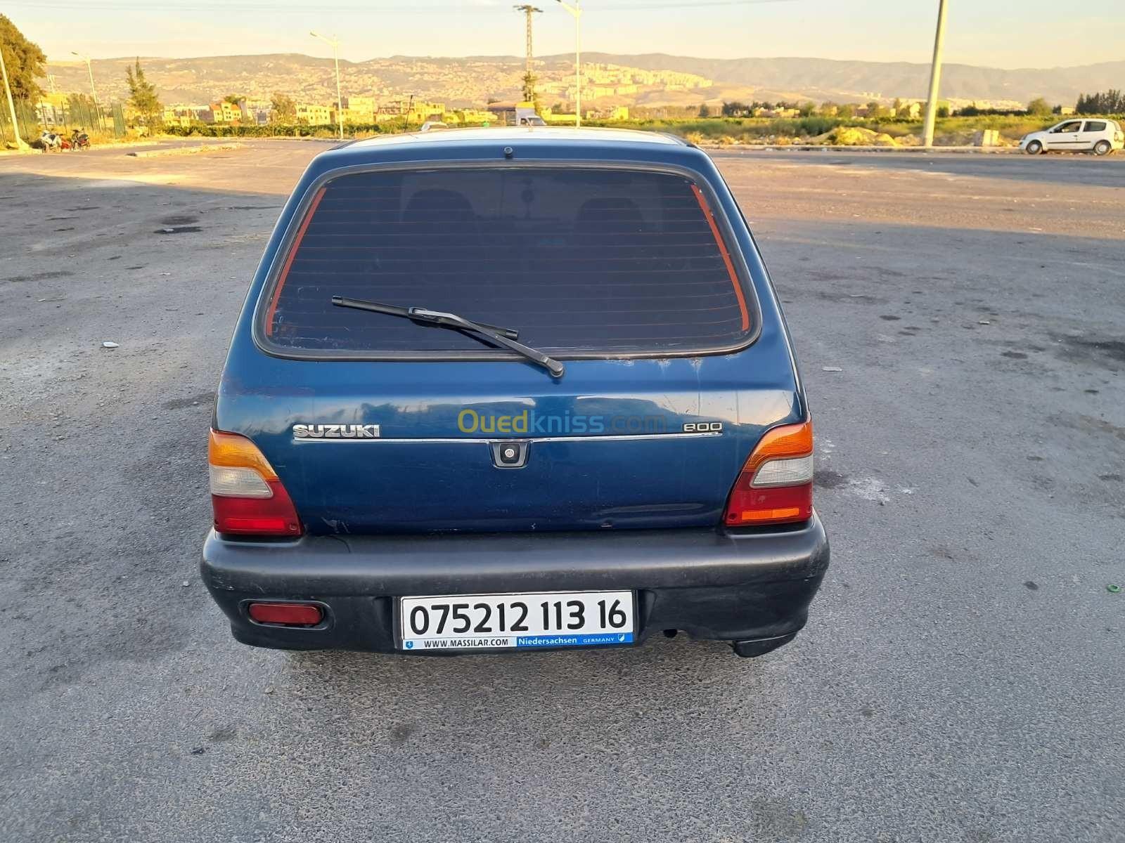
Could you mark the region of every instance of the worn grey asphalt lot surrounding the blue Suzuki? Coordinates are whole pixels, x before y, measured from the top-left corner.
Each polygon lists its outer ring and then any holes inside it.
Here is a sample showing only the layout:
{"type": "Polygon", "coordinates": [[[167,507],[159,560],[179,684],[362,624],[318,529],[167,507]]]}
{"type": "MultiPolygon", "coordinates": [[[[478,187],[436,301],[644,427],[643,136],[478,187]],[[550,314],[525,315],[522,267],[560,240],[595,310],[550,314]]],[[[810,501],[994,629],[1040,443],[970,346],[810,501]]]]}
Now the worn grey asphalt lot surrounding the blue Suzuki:
{"type": "Polygon", "coordinates": [[[0,158],[0,839],[1123,840],[1120,156],[719,154],[816,418],[808,627],[425,660],[244,647],[197,573],[323,148],[0,158]]]}

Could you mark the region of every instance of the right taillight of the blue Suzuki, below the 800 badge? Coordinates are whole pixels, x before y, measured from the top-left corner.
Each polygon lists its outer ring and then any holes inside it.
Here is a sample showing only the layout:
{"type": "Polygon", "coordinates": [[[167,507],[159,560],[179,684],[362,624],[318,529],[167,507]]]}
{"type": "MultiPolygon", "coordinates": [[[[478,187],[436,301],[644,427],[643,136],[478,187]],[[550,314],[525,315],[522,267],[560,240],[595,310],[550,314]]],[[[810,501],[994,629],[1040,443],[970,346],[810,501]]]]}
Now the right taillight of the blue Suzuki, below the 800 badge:
{"type": "Polygon", "coordinates": [[[812,517],[812,422],[767,430],[727,500],[728,527],[792,524],[812,517]]]}

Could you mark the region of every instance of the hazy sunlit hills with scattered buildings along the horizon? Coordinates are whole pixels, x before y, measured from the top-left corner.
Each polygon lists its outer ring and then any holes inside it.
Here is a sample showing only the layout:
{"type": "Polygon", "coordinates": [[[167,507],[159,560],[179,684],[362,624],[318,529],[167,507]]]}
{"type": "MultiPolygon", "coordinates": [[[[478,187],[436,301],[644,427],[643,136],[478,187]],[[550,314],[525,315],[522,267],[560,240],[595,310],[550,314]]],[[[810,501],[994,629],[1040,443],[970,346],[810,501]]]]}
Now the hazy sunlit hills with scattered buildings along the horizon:
{"type": "MultiPolygon", "coordinates": [[[[662,53],[618,55],[586,53],[592,63],[648,71],[694,73],[714,81],[710,89],[647,90],[619,98],[627,103],[683,105],[716,99],[812,99],[861,101],[926,96],[928,64],[904,62],[843,62],[827,58],[698,58],[662,53]]],[[[142,57],[150,81],[164,102],[204,103],[228,93],[268,99],[281,91],[298,99],[330,102],[335,98],[331,58],[298,53],[197,58],[142,57]]],[[[124,99],[125,67],[132,58],[93,62],[104,99],[124,99]]],[[[542,79],[565,80],[573,69],[568,54],[542,56],[542,79]]],[[[513,99],[520,90],[523,60],[518,56],[441,58],[390,56],[366,62],[341,62],[343,88],[356,96],[390,98],[414,93],[450,105],[480,106],[489,98],[513,99]]],[[[64,91],[88,88],[86,66],[50,62],[55,87],[64,91]]],[[[1125,61],[1051,70],[999,70],[946,64],[942,97],[955,101],[988,100],[1025,103],[1045,97],[1052,103],[1072,105],[1080,92],[1125,87],[1125,61]]],[[[548,98],[548,103],[552,100],[548,98]]]]}

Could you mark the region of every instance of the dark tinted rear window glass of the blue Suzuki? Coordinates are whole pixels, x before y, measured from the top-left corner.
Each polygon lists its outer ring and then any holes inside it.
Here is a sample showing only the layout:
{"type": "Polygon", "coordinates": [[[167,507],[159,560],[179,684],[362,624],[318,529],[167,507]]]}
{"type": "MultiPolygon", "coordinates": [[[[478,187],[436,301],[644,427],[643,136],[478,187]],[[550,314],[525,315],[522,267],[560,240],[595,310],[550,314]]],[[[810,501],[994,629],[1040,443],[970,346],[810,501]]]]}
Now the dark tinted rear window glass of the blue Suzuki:
{"type": "Polygon", "coordinates": [[[551,353],[740,345],[749,292],[705,193],[684,175],[510,167],[342,175],[314,196],[261,325],[285,350],[487,352],[457,330],[333,296],[515,328],[551,353]]]}

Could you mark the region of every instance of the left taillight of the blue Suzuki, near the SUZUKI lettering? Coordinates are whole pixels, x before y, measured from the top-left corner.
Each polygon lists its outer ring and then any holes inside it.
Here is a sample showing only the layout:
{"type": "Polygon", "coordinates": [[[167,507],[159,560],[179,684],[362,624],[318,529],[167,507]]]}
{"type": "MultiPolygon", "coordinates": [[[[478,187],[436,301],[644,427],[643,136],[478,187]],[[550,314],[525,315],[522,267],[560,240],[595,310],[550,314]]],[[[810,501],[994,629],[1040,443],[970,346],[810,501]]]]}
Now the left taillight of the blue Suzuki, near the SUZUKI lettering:
{"type": "Polygon", "coordinates": [[[212,430],[207,462],[217,532],[245,536],[299,536],[304,532],[289,493],[253,442],[212,430]]]}

